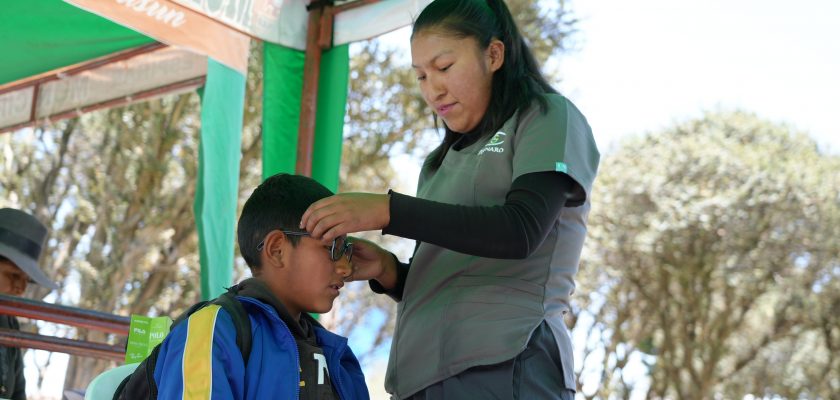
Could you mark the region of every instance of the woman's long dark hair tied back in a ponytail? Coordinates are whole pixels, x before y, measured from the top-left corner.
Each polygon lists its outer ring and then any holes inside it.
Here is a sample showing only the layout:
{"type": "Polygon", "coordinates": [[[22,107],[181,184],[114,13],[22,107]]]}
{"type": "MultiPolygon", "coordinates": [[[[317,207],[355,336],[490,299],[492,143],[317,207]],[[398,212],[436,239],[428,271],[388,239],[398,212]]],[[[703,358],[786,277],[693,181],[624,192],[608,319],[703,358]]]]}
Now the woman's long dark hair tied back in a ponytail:
{"type": "MultiPolygon", "coordinates": [[[[505,62],[493,74],[490,103],[473,134],[495,133],[516,110],[535,100],[545,111],[547,104],[541,95],[557,93],[540,72],[534,54],[503,0],[435,0],[414,21],[411,38],[426,30],[457,38],[474,38],[482,49],[486,49],[493,39],[505,44],[505,62]]],[[[443,142],[428,161],[432,169],[440,167],[459,137],[446,127],[443,142]]]]}

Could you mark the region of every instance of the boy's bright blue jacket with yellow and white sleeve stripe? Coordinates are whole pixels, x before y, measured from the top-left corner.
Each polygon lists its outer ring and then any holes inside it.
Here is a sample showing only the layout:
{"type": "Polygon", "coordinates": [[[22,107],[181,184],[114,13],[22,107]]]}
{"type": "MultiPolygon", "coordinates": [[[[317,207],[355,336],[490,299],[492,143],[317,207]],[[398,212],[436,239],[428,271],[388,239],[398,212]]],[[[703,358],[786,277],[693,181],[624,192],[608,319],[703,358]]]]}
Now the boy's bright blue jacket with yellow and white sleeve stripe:
{"type": "MultiPolygon", "coordinates": [[[[154,372],[158,398],[299,397],[299,356],[291,331],[273,307],[251,297],[237,299],[251,319],[253,339],[248,365],[244,365],[236,345],[230,315],[218,305],[207,306],[175,326],[161,345],[154,372]]],[[[321,326],[314,329],[339,397],[369,399],[362,369],[347,339],[321,326]]]]}

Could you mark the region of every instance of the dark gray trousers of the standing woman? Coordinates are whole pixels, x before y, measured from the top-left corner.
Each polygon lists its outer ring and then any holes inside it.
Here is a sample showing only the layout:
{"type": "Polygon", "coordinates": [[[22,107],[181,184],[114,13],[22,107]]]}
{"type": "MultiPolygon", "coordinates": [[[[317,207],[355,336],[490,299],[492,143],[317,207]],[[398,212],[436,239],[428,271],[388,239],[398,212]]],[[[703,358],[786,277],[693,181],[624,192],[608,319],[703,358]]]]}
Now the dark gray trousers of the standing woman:
{"type": "Polygon", "coordinates": [[[551,328],[543,322],[516,358],[470,368],[437,382],[410,400],[573,400],[551,328]]]}

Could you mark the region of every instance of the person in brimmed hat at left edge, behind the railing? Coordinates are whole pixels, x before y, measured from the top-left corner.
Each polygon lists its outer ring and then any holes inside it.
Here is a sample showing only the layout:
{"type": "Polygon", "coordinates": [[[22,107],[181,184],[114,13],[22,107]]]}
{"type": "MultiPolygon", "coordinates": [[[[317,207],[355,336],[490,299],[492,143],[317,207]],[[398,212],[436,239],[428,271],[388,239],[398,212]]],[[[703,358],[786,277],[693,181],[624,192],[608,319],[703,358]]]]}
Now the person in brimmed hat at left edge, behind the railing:
{"type": "MultiPolygon", "coordinates": [[[[35,217],[13,208],[0,209],[0,293],[20,296],[29,283],[49,289],[58,286],[38,267],[47,227],[35,217]]],[[[13,315],[0,315],[0,328],[20,329],[13,315]]],[[[23,353],[0,346],[0,398],[26,399],[23,353]]]]}

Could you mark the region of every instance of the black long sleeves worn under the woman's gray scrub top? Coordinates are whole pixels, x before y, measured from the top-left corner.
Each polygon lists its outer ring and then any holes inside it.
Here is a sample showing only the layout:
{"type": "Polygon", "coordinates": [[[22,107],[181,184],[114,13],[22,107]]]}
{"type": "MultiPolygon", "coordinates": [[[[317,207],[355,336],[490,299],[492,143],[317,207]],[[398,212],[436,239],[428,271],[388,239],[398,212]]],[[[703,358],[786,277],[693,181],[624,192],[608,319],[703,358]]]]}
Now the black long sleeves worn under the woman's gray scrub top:
{"type": "MultiPolygon", "coordinates": [[[[580,185],[559,172],[514,179],[499,206],[446,204],[391,192],[391,222],[382,233],[479,257],[522,259],[542,244],[563,207],[584,200],[580,185]]],[[[397,261],[397,285],[387,291],[395,300],[402,299],[408,268],[397,261]]],[[[370,285],[386,292],[375,280],[370,285]]]]}

